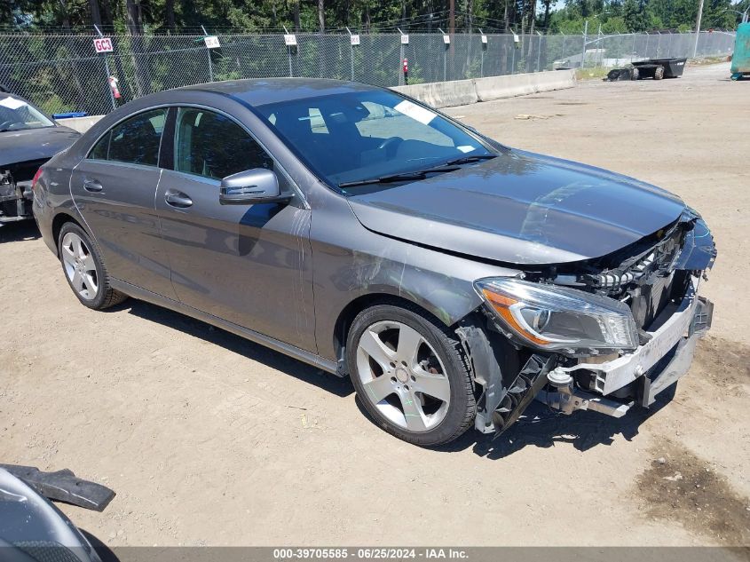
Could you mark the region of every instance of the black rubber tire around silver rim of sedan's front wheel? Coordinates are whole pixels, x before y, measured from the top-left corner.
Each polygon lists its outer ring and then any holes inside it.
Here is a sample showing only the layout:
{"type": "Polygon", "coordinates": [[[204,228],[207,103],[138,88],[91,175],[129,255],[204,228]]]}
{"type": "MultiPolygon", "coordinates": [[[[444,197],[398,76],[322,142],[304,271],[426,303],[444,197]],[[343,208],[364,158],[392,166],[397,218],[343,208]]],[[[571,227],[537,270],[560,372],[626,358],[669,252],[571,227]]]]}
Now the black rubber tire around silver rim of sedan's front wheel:
{"type": "Polygon", "coordinates": [[[346,341],[346,363],[351,381],[367,413],[399,439],[422,447],[434,447],[460,437],[473,423],[477,414],[474,385],[470,368],[460,343],[445,325],[413,305],[375,305],[357,315],[346,341]],[[450,384],[450,402],[445,416],[428,431],[409,431],[383,416],[367,396],[357,371],[359,340],[367,328],[377,322],[395,321],[414,328],[438,355],[450,384]]]}

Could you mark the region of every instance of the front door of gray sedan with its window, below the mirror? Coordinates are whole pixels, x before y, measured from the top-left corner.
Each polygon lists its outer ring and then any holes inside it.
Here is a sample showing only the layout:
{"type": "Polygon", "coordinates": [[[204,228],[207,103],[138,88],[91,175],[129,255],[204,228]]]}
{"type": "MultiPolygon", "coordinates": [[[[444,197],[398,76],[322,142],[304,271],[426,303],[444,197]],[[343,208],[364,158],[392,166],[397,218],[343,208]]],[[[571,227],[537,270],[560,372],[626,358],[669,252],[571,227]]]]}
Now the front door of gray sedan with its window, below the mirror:
{"type": "Polygon", "coordinates": [[[174,119],[174,170],[162,172],[156,209],[179,300],[315,352],[310,210],[299,199],[220,204],[220,178],[233,173],[276,168],[282,191],[290,180],[227,115],[181,107],[174,119]]]}

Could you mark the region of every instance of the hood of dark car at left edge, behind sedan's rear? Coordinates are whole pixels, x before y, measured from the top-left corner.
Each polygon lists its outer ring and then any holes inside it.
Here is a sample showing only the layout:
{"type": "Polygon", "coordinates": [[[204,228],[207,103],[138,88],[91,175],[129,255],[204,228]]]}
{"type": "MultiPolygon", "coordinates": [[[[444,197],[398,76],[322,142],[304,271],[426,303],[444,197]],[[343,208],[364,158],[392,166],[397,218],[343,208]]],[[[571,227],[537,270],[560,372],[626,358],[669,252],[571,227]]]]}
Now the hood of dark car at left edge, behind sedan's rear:
{"type": "Polygon", "coordinates": [[[80,136],[80,133],[67,127],[0,132],[0,166],[49,159],[72,145],[80,136]]]}

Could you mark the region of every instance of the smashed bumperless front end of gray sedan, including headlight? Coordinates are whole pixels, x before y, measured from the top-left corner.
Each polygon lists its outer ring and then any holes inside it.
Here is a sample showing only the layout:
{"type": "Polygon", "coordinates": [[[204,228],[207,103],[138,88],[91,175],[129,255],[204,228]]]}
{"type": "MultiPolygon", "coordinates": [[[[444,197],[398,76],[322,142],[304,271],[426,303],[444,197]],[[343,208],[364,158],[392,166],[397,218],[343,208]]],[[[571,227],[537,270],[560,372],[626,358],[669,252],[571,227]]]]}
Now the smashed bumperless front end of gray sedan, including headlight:
{"type": "Polygon", "coordinates": [[[534,398],[564,414],[648,408],[711,326],[698,288],[715,257],[706,223],[685,210],[608,256],[477,281],[485,305],[456,330],[481,387],[477,429],[507,430],[534,398]]]}

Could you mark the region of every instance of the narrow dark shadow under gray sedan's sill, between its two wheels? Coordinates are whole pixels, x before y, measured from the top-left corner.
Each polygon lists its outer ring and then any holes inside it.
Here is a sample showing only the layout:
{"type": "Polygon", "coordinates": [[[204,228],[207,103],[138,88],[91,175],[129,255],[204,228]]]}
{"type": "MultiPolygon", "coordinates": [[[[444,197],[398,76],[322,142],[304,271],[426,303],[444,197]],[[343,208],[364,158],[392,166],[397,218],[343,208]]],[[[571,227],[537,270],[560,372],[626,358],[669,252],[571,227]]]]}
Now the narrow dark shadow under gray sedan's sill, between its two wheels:
{"type": "Polygon", "coordinates": [[[325,391],[336,394],[336,396],[349,396],[351,392],[354,392],[348,378],[331,375],[320,370],[320,368],[314,368],[283,353],[275,352],[264,345],[255,344],[223,329],[214,328],[185,314],[175,313],[161,306],[151,305],[134,298],[129,298],[122,305],[107,309],[107,312],[120,310],[126,310],[130,314],[138,316],[138,318],[178,329],[210,344],[224,347],[230,352],[237,353],[249,360],[258,361],[286,375],[294,376],[304,383],[314,384],[325,391]]]}

